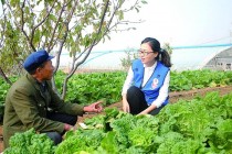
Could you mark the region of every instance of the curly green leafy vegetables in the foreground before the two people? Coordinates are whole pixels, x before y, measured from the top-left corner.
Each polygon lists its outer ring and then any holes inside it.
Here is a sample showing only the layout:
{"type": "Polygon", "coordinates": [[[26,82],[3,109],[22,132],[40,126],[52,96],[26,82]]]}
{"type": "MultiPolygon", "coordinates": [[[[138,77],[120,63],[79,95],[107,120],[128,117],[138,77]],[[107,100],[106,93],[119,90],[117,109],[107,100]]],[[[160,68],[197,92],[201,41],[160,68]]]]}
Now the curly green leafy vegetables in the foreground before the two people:
{"type": "Polygon", "coordinates": [[[84,128],[66,132],[57,146],[30,130],[11,138],[11,147],[4,154],[229,154],[232,153],[231,100],[232,94],[220,97],[210,92],[203,98],[167,105],[156,117],[131,116],[108,108],[105,114],[86,119],[84,128]]]}

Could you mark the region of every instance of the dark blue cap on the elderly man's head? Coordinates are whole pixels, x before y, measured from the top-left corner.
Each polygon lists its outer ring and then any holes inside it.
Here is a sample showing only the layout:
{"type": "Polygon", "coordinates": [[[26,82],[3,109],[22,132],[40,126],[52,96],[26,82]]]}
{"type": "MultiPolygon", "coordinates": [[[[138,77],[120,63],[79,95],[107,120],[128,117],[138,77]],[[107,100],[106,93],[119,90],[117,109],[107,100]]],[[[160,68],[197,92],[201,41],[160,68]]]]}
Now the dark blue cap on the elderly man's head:
{"type": "Polygon", "coordinates": [[[23,67],[27,72],[31,72],[36,69],[44,62],[50,61],[52,58],[54,58],[54,56],[50,56],[45,50],[40,50],[30,54],[25,58],[23,67]]]}

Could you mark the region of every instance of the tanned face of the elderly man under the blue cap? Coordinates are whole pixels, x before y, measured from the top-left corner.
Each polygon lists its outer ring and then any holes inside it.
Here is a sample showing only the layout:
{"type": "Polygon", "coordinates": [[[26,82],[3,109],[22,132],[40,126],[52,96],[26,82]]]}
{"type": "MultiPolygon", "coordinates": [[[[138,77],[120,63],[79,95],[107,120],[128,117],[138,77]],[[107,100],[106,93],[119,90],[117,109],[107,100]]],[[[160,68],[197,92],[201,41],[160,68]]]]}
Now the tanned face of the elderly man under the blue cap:
{"type": "Polygon", "coordinates": [[[44,63],[44,66],[39,68],[40,77],[43,80],[50,80],[50,79],[52,79],[53,72],[54,72],[54,67],[52,65],[52,61],[45,62],[44,63]]]}

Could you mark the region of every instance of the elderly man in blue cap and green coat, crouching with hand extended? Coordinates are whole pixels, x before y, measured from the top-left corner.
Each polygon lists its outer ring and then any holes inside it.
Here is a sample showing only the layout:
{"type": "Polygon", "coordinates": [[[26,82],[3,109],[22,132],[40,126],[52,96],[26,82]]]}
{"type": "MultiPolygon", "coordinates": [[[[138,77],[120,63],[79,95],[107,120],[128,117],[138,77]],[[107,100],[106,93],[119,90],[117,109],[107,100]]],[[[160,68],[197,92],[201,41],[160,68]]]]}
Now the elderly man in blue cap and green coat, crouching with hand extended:
{"type": "Polygon", "coordinates": [[[29,55],[23,64],[28,74],[9,89],[3,118],[4,147],[9,146],[9,139],[15,132],[31,128],[46,133],[59,144],[65,131],[75,125],[77,116],[103,110],[101,101],[85,107],[65,103],[53,91],[50,81],[54,70],[52,58],[44,50],[29,55]]]}

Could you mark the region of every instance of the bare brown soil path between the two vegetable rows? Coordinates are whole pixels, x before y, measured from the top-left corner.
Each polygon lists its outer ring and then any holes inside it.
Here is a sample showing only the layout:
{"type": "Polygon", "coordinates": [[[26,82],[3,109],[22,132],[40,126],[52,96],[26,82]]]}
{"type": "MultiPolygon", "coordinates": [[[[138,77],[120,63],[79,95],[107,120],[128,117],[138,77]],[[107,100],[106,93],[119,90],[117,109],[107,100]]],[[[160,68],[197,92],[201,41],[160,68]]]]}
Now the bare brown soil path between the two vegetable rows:
{"type": "MultiPolygon", "coordinates": [[[[226,87],[214,87],[214,88],[204,88],[204,89],[196,89],[196,90],[189,90],[189,91],[175,91],[170,92],[169,98],[170,98],[170,103],[175,103],[178,100],[190,100],[197,96],[205,96],[207,92],[210,91],[219,91],[221,96],[226,95],[232,91],[232,86],[226,86],[226,87]]],[[[122,110],[122,102],[116,102],[113,103],[106,108],[117,108],[122,110]]],[[[84,114],[83,117],[78,118],[77,122],[83,122],[85,119],[93,118],[96,116],[96,113],[92,114],[84,114]]],[[[0,152],[3,150],[3,138],[2,138],[2,125],[0,125],[0,152]]]]}

